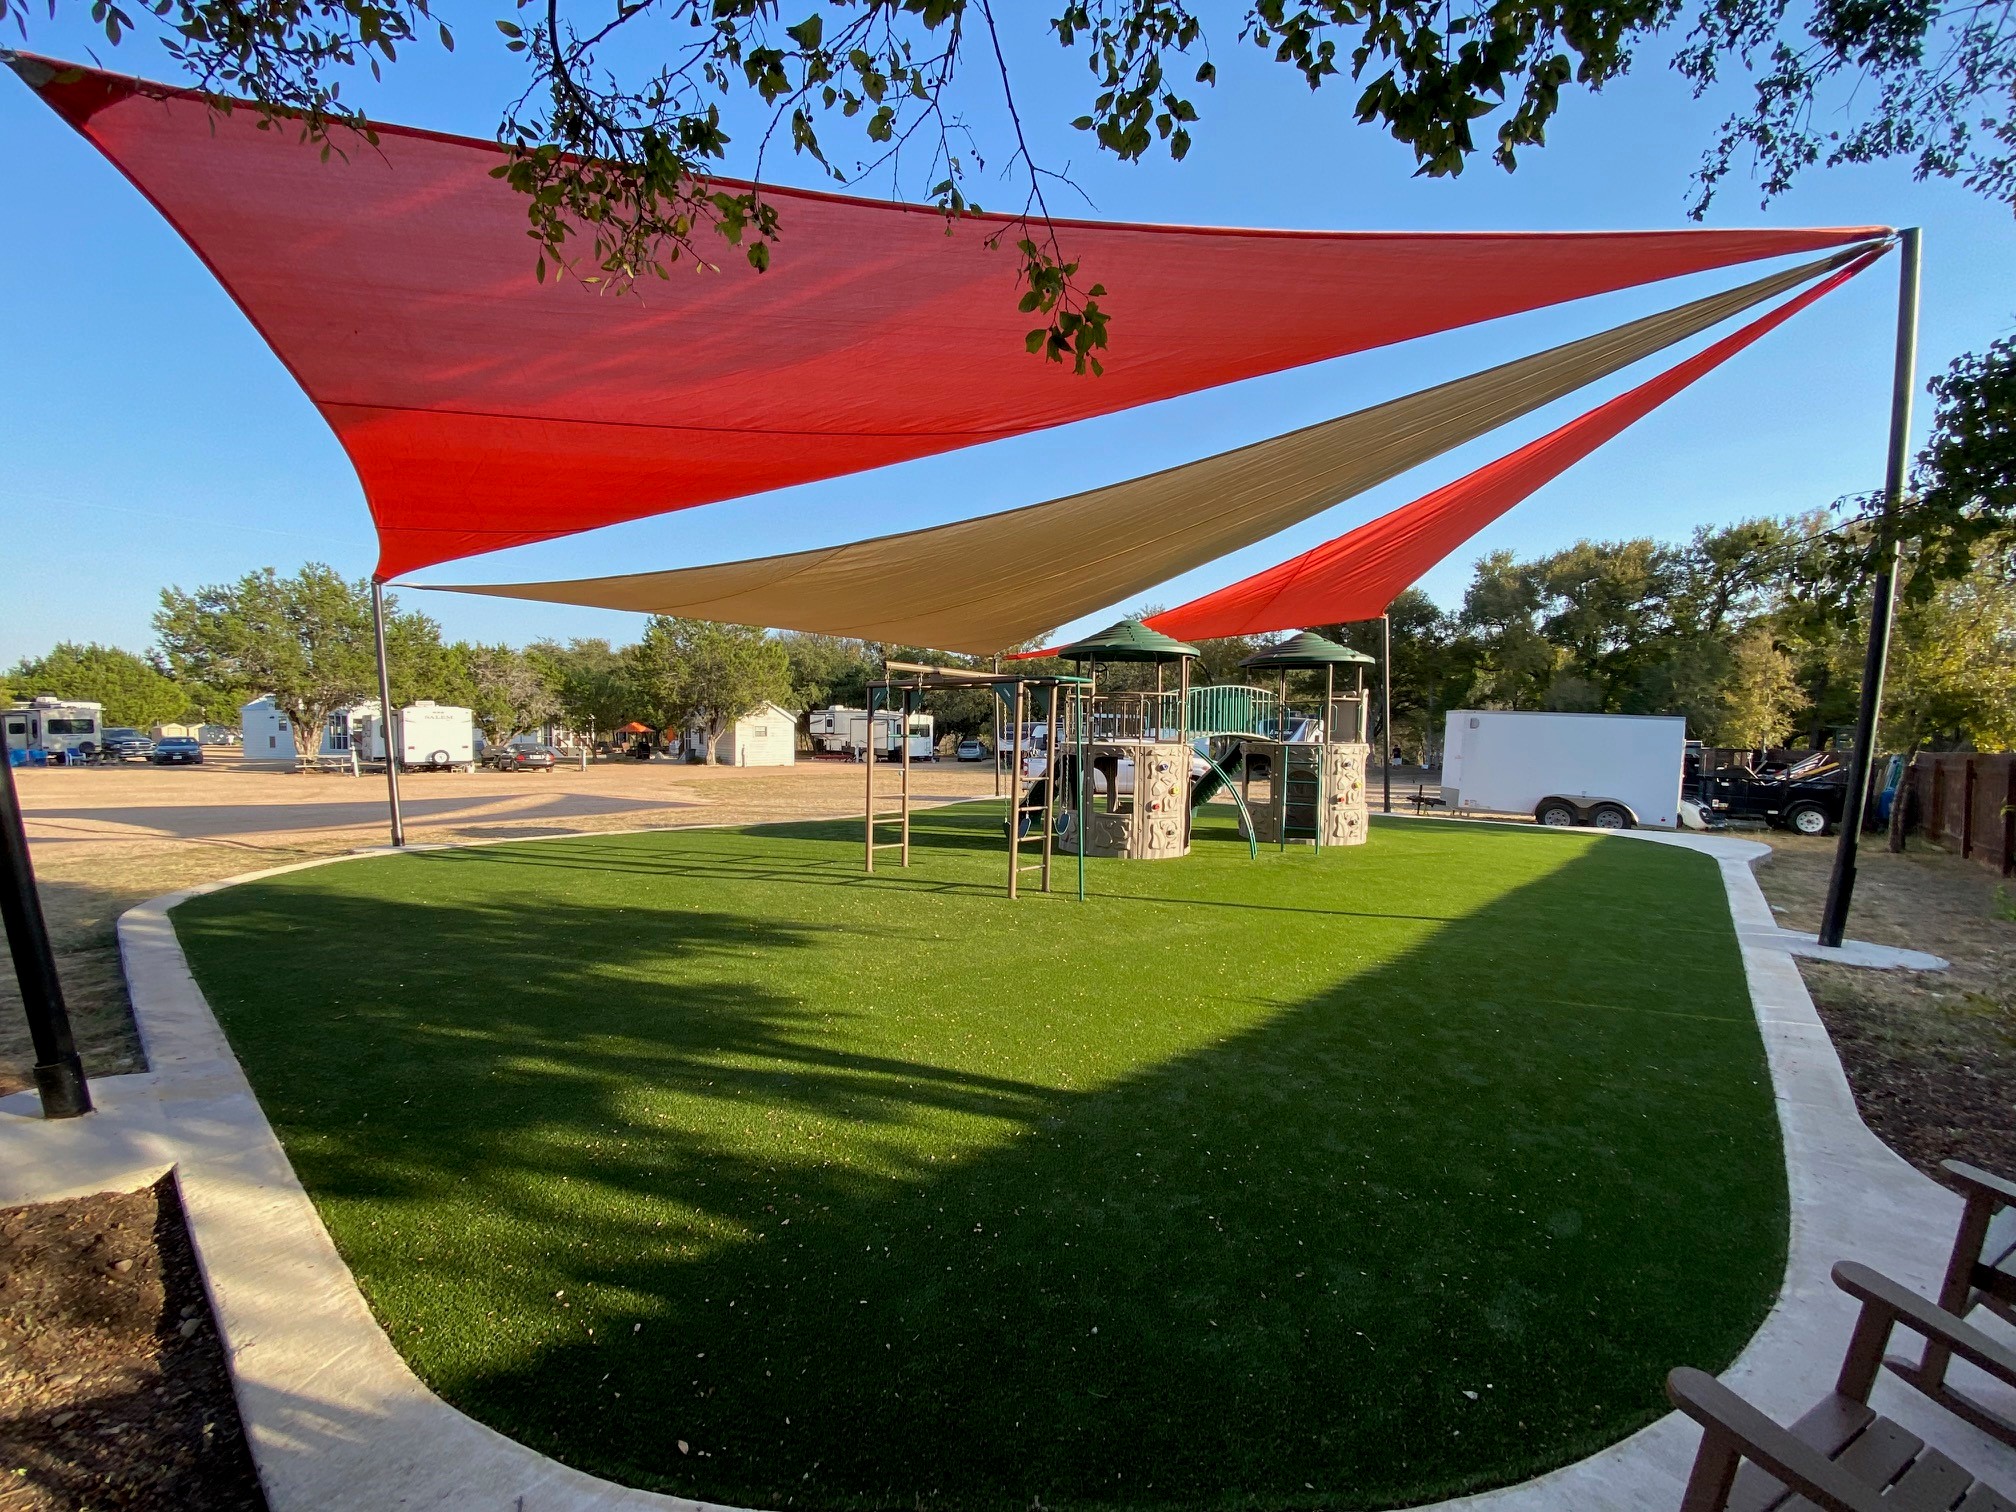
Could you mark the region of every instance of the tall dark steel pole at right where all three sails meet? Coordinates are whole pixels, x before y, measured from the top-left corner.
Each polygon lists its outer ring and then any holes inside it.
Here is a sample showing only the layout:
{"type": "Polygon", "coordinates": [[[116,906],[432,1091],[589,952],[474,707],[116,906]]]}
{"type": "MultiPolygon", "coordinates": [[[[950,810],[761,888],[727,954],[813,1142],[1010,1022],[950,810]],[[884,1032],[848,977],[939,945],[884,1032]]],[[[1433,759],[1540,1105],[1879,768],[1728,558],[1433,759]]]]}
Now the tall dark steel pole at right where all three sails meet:
{"type": "MultiPolygon", "coordinates": [[[[1839,946],[1849,927],[1855,849],[1863,839],[1863,810],[1869,804],[1869,764],[1875,760],[1877,714],[1883,708],[1883,671],[1889,663],[1891,613],[1897,601],[1897,510],[1903,506],[1905,472],[1911,466],[1911,389],[1917,373],[1917,226],[1899,232],[1897,242],[1903,256],[1897,266],[1897,365],[1891,375],[1889,468],[1883,476],[1883,516],[1877,520],[1877,575],[1869,589],[1869,649],[1863,655],[1863,700],[1855,710],[1855,752],[1849,760],[1849,790],[1841,804],[1835,873],[1826,879],[1826,907],[1820,911],[1822,946],[1839,946]]],[[[1893,802],[1903,802],[1901,784],[1893,802]]]]}

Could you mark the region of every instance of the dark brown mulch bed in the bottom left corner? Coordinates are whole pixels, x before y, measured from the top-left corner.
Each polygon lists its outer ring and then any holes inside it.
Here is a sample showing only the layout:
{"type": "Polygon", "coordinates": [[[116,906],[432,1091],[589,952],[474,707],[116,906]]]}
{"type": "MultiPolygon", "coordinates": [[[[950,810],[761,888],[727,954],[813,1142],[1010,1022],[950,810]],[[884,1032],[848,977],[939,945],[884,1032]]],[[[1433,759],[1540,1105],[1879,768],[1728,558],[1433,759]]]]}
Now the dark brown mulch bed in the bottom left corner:
{"type": "Polygon", "coordinates": [[[0,1210],[0,1512],[262,1512],[171,1177],[0,1210]]]}

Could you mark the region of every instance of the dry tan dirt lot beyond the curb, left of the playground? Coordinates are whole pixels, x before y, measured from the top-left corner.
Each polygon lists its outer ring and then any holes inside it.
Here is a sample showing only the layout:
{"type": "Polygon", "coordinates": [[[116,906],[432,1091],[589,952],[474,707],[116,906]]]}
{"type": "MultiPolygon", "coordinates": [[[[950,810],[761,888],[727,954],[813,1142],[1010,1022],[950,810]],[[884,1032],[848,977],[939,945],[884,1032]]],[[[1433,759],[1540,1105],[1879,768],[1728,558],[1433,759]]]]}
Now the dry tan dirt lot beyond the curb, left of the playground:
{"type": "MultiPolygon", "coordinates": [[[[385,778],[204,766],[24,768],[14,774],[56,968],[87,1075],[141,1070],[113,925],[135,903],[220,877],[385,845],[385,778]]],[[[897,772],[875,768],[889,790],[897,772]]],[[[407,841],[494,841],[661,825],[754,825],[859,814],[865,768],[708,768],[597,762],[554,772],[409,772],[407,841]]],[[[915,800],[994,792],[988,766],[911,770],[915,800]]],[[[34,1056],[12,962],[0,960],[0,1093],[34,1056]]]]}

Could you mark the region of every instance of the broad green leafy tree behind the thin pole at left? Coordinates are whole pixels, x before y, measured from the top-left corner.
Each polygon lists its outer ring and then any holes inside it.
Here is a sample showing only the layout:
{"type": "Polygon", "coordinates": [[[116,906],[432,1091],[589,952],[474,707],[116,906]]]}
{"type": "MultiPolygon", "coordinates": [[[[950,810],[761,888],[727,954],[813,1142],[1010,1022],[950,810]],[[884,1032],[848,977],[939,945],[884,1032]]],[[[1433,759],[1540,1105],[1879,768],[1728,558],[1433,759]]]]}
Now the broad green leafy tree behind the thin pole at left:
{"type": "MultiPolygon", "coordinates": [[[[236,710],[272,694],[312,754],[329,716],[377,698],[371,639],[371,585],[347,583],[321,562],[280,577],[266,566],[236,583],[196,593],[161,591],[153,617],[161,659],[181,681],[212,689],[212,702],[236,710]]],[[[454,667],[442,629],[425,615],[399,613],[385,601],[385,649],[393,698],[431,698],[452,685],[454,667]]]]}

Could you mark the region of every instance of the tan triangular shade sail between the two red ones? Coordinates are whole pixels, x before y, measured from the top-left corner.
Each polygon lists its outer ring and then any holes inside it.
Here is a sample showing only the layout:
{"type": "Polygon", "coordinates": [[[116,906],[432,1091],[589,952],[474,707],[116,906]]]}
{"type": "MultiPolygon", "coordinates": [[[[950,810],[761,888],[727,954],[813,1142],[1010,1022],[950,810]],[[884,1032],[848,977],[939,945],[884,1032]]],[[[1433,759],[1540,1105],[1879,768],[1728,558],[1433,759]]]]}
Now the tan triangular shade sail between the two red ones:
{"type": "Polygon", "coordinates": [[[718,566],[452,591],[986,655],[1320,514],[1865,250],[1851,248],[1371,409],[1046,504],[718,566]]]}

